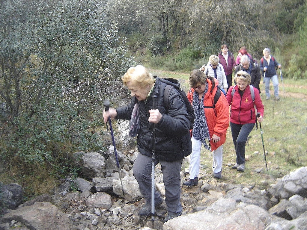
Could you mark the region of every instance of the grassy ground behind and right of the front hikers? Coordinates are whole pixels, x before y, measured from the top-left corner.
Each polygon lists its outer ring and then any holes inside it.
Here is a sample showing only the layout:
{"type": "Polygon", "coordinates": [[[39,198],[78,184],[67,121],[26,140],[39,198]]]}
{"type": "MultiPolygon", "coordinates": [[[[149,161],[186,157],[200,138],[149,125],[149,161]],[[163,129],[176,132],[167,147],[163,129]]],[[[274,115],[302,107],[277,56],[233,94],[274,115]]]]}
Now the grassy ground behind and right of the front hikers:
{"type": "MultiPolygon", "coordinates": [[[[188,73],[150,71],[163,78],[176,78],[181,82],[182,88],[188,90],[188,73]]],[[[260,88],[263,89],[262,82],[260,88]]],[[[273,94],[272,84],[270,91],[273,94]]],[[[268,171],[266,171],[259,127],[258,130],[254,128],[247,142],[245,172],[239,173],[231,169],[236,156],[231,130],[228,128],[227,140],[223,144],[223,174],[220,182],[241,183],[264,189],[274,183],[276,178],[307,165],[307,82],[283,79],[283,82],[279,82],[279,94],[281,98],[279,101],[272,99],[266,101],[265,95],[263,93],[261,95],[265,106],[262,131],[267,151],[268,171]]],[[[211,152],[203,148],[200,163],[200,176],[203,176],[204,180],[212,180],[211,152]]],[[[184,167],[188,167],[188,161],[185,161],[184,167]]]]}

